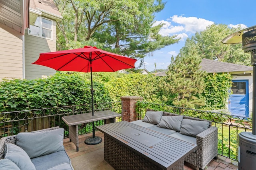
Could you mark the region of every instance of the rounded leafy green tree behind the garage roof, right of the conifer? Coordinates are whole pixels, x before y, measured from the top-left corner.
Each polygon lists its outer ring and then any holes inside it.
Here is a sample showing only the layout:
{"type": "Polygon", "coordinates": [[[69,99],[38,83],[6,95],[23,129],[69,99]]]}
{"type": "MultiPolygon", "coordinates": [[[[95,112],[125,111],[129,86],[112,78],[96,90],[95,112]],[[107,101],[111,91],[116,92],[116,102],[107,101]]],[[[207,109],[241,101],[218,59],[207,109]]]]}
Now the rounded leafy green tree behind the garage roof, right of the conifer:
{"type": "Polygon", "coordinates": [[[190,49],[196,49],[201,59],[211,59],[228,63],[250,65],[250,55],[242,51],[242,45],[226,45],[221,41],[228,35],[241,28],[230,28],[224,24],[213,24],[206,30],[197,32],[190,39],[186,40],[185,46],[180,50],[185,55],[190,49]]]}

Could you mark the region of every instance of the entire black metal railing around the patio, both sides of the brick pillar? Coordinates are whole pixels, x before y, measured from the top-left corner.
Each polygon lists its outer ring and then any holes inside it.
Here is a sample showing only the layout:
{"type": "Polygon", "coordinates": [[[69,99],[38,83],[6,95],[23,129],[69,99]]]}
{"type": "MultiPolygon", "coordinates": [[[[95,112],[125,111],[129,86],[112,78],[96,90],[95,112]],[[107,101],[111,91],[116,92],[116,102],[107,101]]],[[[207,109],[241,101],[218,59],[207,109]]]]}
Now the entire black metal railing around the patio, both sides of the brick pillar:
{"type": "MultiPolygon", "coordinates": [[[[110,109],[116,113],[122,113],[122,102],[108,102],[94,104],[95,111],[110,109]]],[[[198,117],[212,121],[212,125],[218,127],[218,154],[232,160],[238,158],[238,133],[252,131],[252,118],[238,117],[224,113],[188,109],[182,107],[166,106],[152,103],[144,103],[137,109],[139,119],[143,119],[146,109],[162,110],[179,115],[198,117]]],[[[65,129],[65,137],[68,137],[68,126],[61,117],[81,113],[90,113],[91,105],[63,106],[23,111],[0,113],[0,137],[16,135],[19,132],[35,131],[48,127],[60,126],[65,129]]],[[[116,121],[121,121],[121,117],[116,121]]],[[[104,121],[96,121],[97,125],[104,121]]],[[[92,132],[92,123],[79,125],[79,135],[92,132]]]]}

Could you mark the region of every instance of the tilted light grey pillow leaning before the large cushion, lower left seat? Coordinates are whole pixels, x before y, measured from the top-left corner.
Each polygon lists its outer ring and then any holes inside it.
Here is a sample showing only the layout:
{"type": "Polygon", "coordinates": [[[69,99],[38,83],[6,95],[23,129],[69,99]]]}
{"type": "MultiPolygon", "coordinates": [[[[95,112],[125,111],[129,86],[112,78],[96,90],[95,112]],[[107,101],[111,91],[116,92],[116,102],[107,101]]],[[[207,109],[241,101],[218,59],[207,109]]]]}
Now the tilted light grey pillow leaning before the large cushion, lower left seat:
{"type": "Polygon", "coordinates": [[[14,162],[20,170],[36,170],[28,154],[23,149],[12,143],[7,143],[6,148],[4,158],[14,162]]]}

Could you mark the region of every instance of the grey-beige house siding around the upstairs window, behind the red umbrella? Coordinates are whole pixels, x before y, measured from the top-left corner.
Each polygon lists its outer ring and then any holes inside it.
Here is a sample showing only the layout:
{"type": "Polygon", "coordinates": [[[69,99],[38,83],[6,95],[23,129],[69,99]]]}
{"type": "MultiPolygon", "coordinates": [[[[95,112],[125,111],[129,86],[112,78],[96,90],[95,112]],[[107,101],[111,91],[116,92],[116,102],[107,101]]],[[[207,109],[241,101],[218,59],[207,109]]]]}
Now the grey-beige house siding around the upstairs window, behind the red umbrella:
{"type": "Polygon", "coordinates": [[[46,66],[40,66],[37,64],[31,64],[35,62],[40,53],[47,53],[56,51],[56,21],[53,20],[52,27],[53,39],[46,39],[28,35],[28,31],[25,32],[25,78],[35,79],[42,78],[42,76],[50,76],[56,73],[52,68],[46,66]]]}

